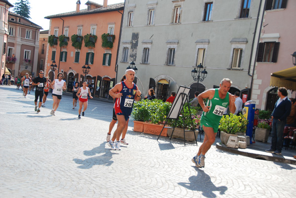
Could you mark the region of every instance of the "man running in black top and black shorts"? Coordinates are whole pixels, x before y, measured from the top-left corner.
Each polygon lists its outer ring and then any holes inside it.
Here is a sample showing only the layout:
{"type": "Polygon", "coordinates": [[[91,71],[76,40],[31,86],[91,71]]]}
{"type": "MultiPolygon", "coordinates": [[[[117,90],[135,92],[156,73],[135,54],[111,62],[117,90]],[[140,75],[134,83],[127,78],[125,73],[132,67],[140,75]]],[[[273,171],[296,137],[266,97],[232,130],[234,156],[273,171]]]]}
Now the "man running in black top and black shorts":
{"type": "Polygon", "coordinates": [[[42,70],[39,71],[39,76],[37,76],[36,78],[34,78],[32,85],[36,85],[36,91],[35,91],[35,111],[37,111],[37,113],[40,112],[40,107],[42,104],[42,98],[44,95],[44,87],[47,88],[45,86],[46,83],[46,78],[43,76],[44,72],[42,70]],[[39,103],[37,106],[37,100],[39,98],[39,103]]]}

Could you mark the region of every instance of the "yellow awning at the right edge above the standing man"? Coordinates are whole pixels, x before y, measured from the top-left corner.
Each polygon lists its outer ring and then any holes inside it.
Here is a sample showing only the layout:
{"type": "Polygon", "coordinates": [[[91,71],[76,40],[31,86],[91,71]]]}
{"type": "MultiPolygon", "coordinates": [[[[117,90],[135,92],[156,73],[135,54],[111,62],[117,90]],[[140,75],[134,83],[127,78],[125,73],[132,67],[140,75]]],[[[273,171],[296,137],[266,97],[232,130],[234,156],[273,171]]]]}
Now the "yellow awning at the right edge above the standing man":
{"type": "Polygon", "coordinates": [[[296,66],[271,73],[269,86],[296,91],[296,66]]]}

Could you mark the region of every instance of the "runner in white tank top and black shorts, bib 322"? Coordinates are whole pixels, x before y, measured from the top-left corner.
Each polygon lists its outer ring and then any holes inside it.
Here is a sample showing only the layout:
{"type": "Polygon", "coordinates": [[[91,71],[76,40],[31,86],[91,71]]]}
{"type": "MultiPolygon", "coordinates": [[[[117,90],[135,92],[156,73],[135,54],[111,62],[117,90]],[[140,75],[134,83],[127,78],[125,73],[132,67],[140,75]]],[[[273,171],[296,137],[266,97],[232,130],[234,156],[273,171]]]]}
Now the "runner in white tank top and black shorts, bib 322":
{"type": "Polygon", "coordinates": [[[58,73],[58,79],[55,79],[51,83],[52,89],[52,110],[50,111],[50,115],[55,115],[55,111],[59,107],[60,101],[62,99],[63,91],[66,90],[66,82],[63,80],[64,74],[62,72],[58,73]]]}

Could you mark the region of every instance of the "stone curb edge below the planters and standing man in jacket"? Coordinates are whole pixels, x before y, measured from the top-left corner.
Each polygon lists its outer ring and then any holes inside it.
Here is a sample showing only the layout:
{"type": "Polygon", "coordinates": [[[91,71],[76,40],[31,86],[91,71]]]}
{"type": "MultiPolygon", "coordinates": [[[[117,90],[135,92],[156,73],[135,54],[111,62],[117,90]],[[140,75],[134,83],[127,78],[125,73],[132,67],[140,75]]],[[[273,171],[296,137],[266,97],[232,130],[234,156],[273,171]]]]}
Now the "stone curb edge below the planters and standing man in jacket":
{"type": "Polygon", "coordinates": [[[220,142],[216,143],[216,148],[222,151],[226,151],[226,152],[230,152],[230,153],[234,153],[234,154],[238,154],[238,155],[242,155],[250,158],[255,158],[259,160],[267,160],[267,161],[296,165],[296,159],[294,159],[293,157],[275,155],[272,153],[267,153],[265,151],[258,151],[258,150],[248,149],[248,148],[247,149],[228,148],[220,142]]]}

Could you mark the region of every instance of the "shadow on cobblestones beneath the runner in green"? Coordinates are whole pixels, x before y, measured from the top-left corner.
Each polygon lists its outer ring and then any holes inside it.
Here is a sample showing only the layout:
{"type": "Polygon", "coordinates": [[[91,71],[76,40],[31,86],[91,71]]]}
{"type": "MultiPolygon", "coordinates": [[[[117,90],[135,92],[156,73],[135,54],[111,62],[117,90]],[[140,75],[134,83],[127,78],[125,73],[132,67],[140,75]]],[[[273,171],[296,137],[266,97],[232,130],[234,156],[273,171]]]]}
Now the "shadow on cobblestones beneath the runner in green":
{"type": "MultiPolygon", "coordinates": [[[[195,166],[194,166],[195,167],[195,166]]],[[[191,190],[191,191],[201,191],[202,195],[207,198],[216,198],[214,191],[219,191],[220,195],[223,195],[227,190],[226,186],[217,187],[211,181],[211,177],[206,174],[200,168],[197,168],[197,175],[189,177],[189,183],[178,183],[179,185],[191,190]]]]}

